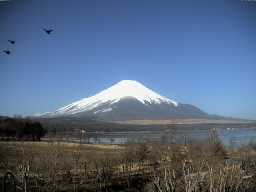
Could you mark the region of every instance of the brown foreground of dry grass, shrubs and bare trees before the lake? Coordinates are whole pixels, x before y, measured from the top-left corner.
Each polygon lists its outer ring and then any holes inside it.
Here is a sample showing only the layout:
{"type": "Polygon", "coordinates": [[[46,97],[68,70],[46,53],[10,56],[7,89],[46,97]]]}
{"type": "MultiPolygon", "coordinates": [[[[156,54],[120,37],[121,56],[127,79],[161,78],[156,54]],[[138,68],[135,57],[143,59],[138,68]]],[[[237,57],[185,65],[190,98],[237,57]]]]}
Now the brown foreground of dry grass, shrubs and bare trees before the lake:
{"type": "MultiPolygon", "coordinates": [[[[212,132],[204,140],[187,138],[184,146],[177,124],[167,130],[160,140],[125,146],[65,142],[62,134],[46,142],[0,142],[0,184],[11,171],[16,191],[25,192],[256,190],[254,140],[232,138],[224,146],[212,132]]],[[[10,178],[7,184],[10,190],[10,178]]]]}

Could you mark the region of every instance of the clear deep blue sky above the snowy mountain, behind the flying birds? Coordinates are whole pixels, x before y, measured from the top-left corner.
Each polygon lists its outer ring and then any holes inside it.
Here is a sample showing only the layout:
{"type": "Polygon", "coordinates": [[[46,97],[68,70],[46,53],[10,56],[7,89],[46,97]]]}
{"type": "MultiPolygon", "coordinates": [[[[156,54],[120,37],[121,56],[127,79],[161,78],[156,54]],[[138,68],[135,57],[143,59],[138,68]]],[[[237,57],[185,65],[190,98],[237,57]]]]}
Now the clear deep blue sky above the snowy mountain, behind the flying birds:
{"type": "Polygon", "coordinates": [[[53,111],[127,79],[256,120],[255,1],[12,0],[0,20],[0,115],[53,111]]]}

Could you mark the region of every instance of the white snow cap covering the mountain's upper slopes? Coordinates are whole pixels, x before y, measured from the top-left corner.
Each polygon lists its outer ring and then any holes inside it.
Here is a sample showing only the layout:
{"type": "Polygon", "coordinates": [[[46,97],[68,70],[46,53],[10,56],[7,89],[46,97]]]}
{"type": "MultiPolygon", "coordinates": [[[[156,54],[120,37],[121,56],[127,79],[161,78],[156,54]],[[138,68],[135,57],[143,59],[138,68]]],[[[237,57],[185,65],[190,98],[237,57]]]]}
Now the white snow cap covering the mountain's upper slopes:
{"type": "MultiPolygon", "coordinates": [[[[67,106],[64,106],[54,112],[46,112],[44,114],[35,114],[34,116],[62,116],[62,115],[71,115],[80,112],[86,112],[94,108],[103,106],[106,103],[114,104],[125,98],[134,98],[140,101],[142,104],[147,105],[147,102],[150,104],[172,104],[175,107],[178,106],[178,103],[161,96],[152,90],[146,88],[142,84],[134,80],[123,80],[118,82],[118,84],[88,98],[81,98],[74,103],[71,103],[67,106]]],[[[96,113],[104,113],[111,111],[112,108],[100,109],[96,113]]]]}

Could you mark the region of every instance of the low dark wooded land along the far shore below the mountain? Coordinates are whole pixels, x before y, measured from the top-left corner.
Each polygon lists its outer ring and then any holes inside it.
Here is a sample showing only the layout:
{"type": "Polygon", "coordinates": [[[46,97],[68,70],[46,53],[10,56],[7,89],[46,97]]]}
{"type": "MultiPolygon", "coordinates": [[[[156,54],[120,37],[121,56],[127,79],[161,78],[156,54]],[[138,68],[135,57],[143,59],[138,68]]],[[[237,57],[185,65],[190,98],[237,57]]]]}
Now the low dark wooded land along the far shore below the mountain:
{"type": "MultiPolygon", "coordinates": [[[[7,116],[0,116],[0,122],[7,116]]],[[[110,122],[99,122],[85,118],[61,116],[55,118],[30,118],[30,121],[41,122],[48,131],[149,131],[164,130],[165,124],[118,124],[110,122]]],[[[212,129],[212,128],[237,128],[237,127],[256,127],[256,121],[234,122],[234,123],[183,123],[178,125],[181,129],[212,129]]]]}

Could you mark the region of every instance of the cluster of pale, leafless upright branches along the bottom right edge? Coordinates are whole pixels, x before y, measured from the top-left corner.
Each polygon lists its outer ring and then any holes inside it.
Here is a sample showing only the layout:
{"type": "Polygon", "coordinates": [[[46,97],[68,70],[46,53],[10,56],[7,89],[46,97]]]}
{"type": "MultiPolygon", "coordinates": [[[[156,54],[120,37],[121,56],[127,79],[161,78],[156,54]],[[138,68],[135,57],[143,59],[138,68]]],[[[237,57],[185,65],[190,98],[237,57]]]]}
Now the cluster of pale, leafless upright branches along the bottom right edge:
{"type": "Polygon", "coordinates": [[[150,175],[154,187],[151,186],[148,189],[150,192],[244,192],[253,190],[254,178],[245,182],[244,175],[238,174],[234,165],[229,167],[225,164],[223,167],[216,168],[212,164],[201,164],[199,167],[199,169],[187,169],[183,162],[181,178],[177,177],[174,170],[163,168],[161,177],[156,173],[150,175]]]}

